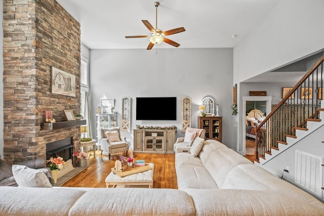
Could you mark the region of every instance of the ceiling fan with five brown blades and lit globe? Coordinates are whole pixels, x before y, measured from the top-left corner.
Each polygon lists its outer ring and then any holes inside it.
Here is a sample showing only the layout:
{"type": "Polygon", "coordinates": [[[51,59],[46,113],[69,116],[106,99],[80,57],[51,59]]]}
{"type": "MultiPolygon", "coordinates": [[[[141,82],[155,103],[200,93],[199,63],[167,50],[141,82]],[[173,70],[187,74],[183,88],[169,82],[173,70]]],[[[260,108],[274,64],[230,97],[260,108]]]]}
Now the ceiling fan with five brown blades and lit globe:
{"type": "Polygon", "coordinates": [[[148,28],[148,30],[151,32],[151,36],[149,36],[149,35],[137,35],[137,36],[125,36],[125,37],[126,38],[150,37],[150,44],[148,45],[147,50],[151,50],[155,44],[160,44],[162,41],[164,41],[167,44],[170,44],[172,46],[179,47],[180,44],[178,44],[177,42],[175,42],[173,40],[170,40],[170,39],[166,38],[165,36],[180,33],[182,31],[185,31],[186,29],[184,29],[184,27],[175,28],[175,29],[171,29],[171,30],[168,30],[168,31],[162,31],[162,30],[158,29],[157,28],[157,7],[159,5],[160,4],[158,2],[154,2],[155,19],[156,19],[155,26],[156,26],[156,28],[154,28],[147,20],[142,20],[142,22],[144,23],[146,28],[148,28]]]}

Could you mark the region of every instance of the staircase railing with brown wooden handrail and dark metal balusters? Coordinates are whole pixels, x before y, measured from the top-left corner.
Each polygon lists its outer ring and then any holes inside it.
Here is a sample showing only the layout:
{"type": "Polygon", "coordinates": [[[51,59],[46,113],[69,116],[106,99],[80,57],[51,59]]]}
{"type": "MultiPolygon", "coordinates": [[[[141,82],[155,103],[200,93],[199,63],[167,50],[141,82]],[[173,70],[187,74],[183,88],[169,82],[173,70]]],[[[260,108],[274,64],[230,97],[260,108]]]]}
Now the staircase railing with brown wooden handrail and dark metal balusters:
{"type": "Polygon", "coordinates": [[[286,96],[256,129],[255,161],[265,159],[278,143],[287,144],[287,137],[296,138],[296,129],[307,130],[307,121],[318,120],[323,99],[323,57],[289,89],[286,96]]]}

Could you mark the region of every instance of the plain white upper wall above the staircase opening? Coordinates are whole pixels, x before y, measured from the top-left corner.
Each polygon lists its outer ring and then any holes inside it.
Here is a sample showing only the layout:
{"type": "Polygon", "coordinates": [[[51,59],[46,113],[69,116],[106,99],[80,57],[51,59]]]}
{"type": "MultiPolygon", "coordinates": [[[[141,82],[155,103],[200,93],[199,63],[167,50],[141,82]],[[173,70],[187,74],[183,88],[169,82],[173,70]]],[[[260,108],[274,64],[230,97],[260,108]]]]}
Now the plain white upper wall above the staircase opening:
{"type": "Polygon", "coordinates": [[[323,11],[322,0],[282,0],[234,48],[233,83],[323,49],[323,11]]]}

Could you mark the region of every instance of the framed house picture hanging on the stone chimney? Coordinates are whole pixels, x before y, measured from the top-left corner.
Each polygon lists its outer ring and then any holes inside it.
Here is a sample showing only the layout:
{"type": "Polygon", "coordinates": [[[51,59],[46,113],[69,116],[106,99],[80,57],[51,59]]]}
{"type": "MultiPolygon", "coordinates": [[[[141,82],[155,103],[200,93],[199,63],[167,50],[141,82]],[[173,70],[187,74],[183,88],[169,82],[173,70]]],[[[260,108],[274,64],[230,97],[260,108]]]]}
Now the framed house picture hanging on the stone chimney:
{"type": "Polygon", "coordinates": [[[75,76],[51,67],[51,93],[75,97],[75,76]]]}

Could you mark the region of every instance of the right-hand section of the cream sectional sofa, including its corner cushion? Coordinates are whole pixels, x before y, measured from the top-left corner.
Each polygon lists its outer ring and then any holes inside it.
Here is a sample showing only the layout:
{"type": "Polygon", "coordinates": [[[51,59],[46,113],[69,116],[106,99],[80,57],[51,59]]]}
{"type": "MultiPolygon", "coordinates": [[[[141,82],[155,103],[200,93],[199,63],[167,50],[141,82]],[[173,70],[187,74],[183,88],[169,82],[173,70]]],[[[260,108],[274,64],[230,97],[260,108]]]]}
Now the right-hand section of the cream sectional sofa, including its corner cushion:
{"type": "Polygon", "coordinates": [[[197,157],[176,149],[178,189],[186,191],[195,215],[324,215],[324,204],[215,140],[197,157]]]}

